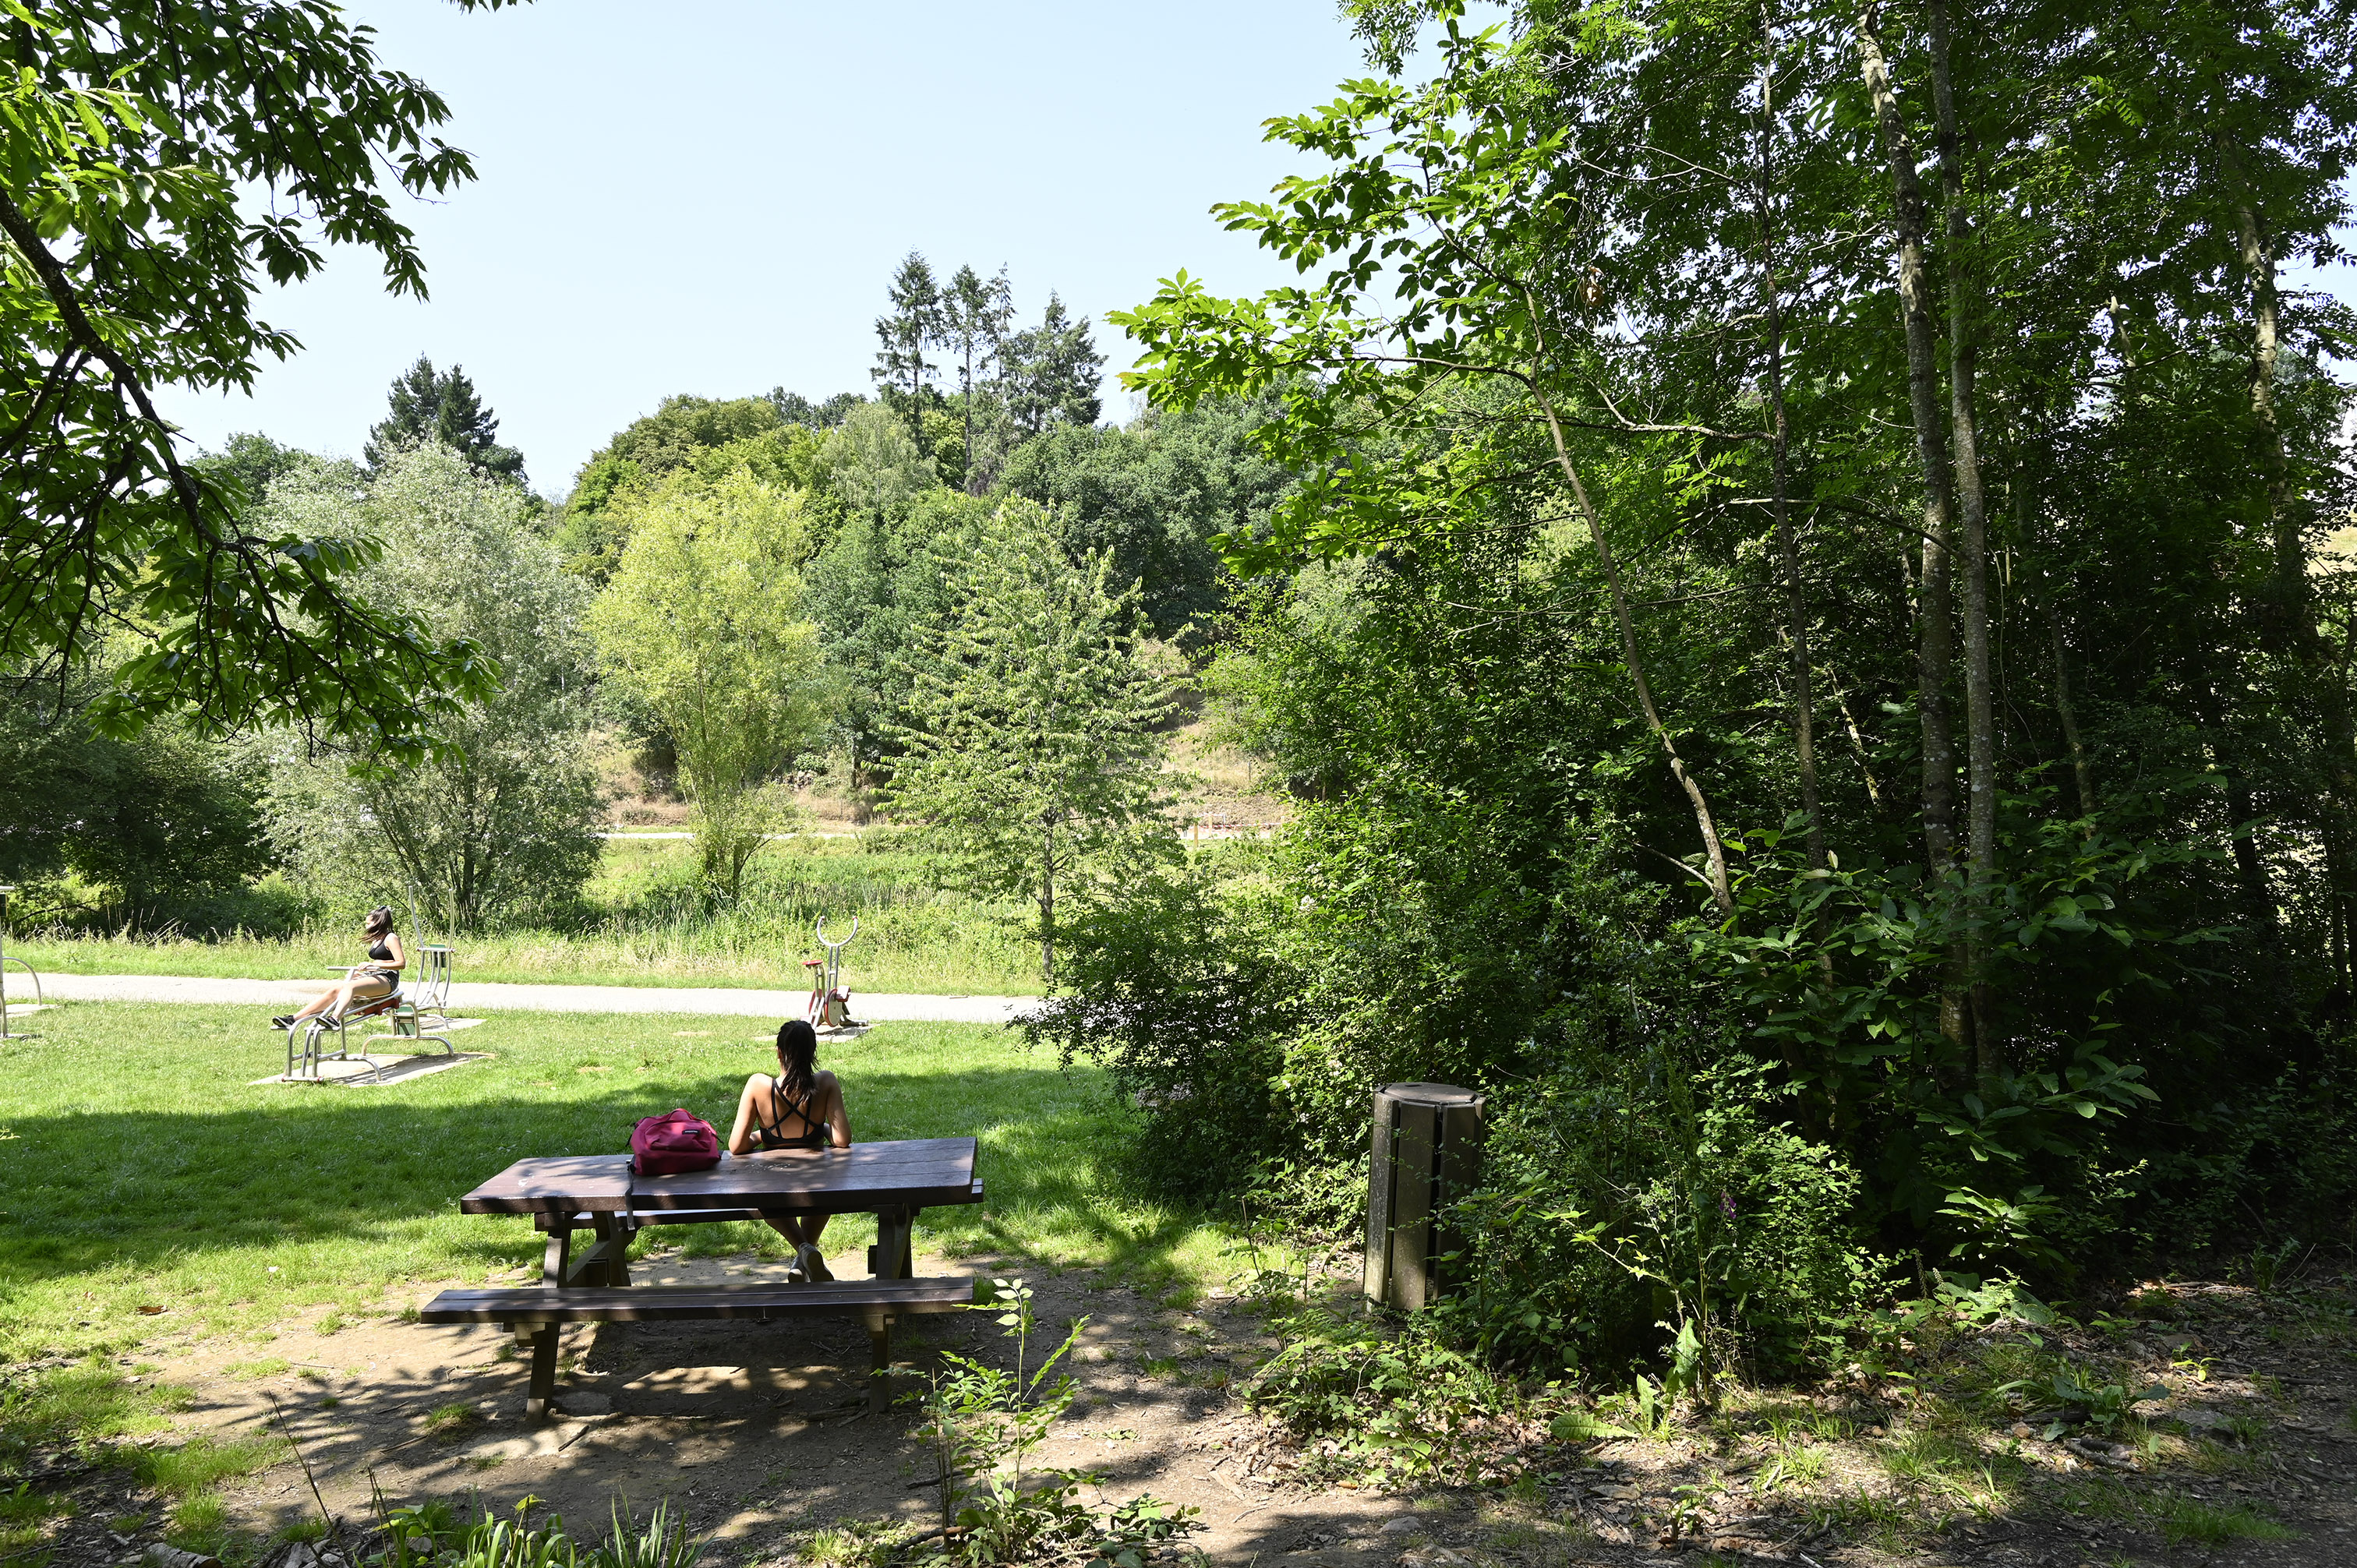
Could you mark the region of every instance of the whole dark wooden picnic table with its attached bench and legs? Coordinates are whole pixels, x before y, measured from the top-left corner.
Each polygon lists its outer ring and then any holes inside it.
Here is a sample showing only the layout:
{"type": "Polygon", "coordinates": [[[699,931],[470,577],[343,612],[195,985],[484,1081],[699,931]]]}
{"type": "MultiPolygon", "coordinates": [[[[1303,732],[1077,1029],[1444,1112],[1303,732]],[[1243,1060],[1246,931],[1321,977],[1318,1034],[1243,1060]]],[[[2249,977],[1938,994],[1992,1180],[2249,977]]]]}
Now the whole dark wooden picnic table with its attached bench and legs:
{"type": "Polygon", "coordinates": [[[460,1198],[457,1207],[462,1214],[530,1214],[549,1233],[540,1285],[445,1290],[420,1320],[509,1325],[533,1353],[526,1419],[537,1422],[556,1398],[556,1339],[566,1323],[858,1316],[874,1353],[870,1408],[882,1408],[893,1318],[962,1311],[973,1302],[969,1276],[910,1278],[917,1214],[983,1200],[973,1158],[973,1139],[903,1139],[724,1153],[712,1170],[676,1177],[636,1177],[629,1155],[516,1160],[460,1198]],[[764,1214],[874,1214],[870,1278],[813,1285],[629,1283],[629,1243],[643,1226],[764,1214]],[[577,1231],[592,1236],[582,1250],[573,1247],[577,1231]]]}

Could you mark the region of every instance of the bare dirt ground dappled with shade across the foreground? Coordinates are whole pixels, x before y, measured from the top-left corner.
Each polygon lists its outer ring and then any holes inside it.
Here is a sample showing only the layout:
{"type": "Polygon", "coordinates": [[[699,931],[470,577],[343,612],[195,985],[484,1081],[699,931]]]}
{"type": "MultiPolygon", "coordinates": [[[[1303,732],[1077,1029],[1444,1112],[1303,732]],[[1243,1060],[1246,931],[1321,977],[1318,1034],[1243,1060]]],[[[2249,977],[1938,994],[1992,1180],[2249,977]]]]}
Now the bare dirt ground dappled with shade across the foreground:
{"type": "MultiPolygon", "coordinates": [[[[1560,1445],[1541,1436],[1520,1452],[1520,1488],[1376,1495],[1294,1478],[1306,1445],[1230,1398],[1228,1382],[1273,1349],[1256,1316],[1233,1302],[1167,1309],[1084,1271],[1016,1269],[1037,1287],[1047,1335],[1089,1318],[1075,1365],[1082,1401],[1037,1462],[1103,1471],[1105,1500],[1153,1493],[1197,1509],[1204,1530],[1190,1547],[1214,1563],[2357,1563],[2357,1290],[2348,1278],[2277,1297],[2178,1285],[2147,1292],[2138,1325],[2036,1335],[2039,1353],[2114,1356],[2112,1365],[2140,1365],[2168,1389],[2147,1405],[2157,1419],[2140,1448],[2093,1441],[2086,1429],[2046,1441],[2027,1422],[1966,1429],[1954,1401],[1933,1394],[1942,1379],[1973,1358],[2032,1353],[2018,1335],[1966,1335],[1912,1382],[1763,1391],[1664,1441],[1560,1445]],[[1796,1441],[1801,1424],[1815,1424],[1822,1441],[1796,1441]],[[1820,1455],[1808,1485],[1777,1478],[1777,1464],[1798,1469],[1796,1452],[1820,1455]],[[1942,1469],[1940,1452],[1966,1462],[1942,1469]],[[1975,1507],[1982,1462],[2003,1495],[1975,1507]],[[1692,1488],[1683,1493],[1688,1530],[1664,1540],[1681,1488],[1692,1488]],[[2260,1537],[2220,1518],[2258,1521],[2260,1537]],[[2286,1530],[2289,1540],[2263,1537],[2286,1530]]],[[[919,1259],[919,1273],[938,1271],[1004,1269],[919,1259]]],[[[783,1264],[750,1257],[658,1252],[634,1264],[646,1283],[780,1273],[783,1264]]],[[[900,1349],[907,1386],[945,1349],[1009,1361],[985,1313],[926,1320],[900,1349]]],[[[189,1391],[177,1438],[262,1431],[276,1401],[328,1507],[351,1518],[365,1518],[372,1481],[394,1502],[478,1493],[507,1509],[537,1495],[577,1528],[603,1526],[613,1497],[641,1516],[667,1497],[712,1533],[705,1561],[735,1568],[813,1561],[811,1540],[825,1528],[872,1537],[896,1521],[915,1530],[936,1509],[915,1415],[863,1415],[867,1344],[856,1325],[568,1330],[561,1403],[570,1410],[540,1429],[521,1422],[521,1361],[488,1327],[379,1318],[318,1332],[288,1323],[262,1344],[172,1344],[165,1335],[146,1356],[189,1391]]],[[[85,1481],[78,1518],[59,1533],[57,1568],[120,1563],[153,1540],[153,1526],[99,1533],[108,1516],[160,1511],[123,1488],[120,1476],[85,1481]]],[[[316,1514],[292,1464],[224,1490],[247,1530],[316,1514]]]]}

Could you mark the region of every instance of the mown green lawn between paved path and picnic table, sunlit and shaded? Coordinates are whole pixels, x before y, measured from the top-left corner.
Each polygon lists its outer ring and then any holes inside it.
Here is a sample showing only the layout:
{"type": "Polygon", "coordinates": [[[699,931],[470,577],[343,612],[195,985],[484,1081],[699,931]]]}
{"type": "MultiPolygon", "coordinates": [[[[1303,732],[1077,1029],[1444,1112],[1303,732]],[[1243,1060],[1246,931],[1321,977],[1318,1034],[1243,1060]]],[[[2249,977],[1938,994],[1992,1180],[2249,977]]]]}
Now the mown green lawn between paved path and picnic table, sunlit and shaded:
{"type": "MultiPolygon", "coordinates": [[[[460,1035],[490,1061],[379,1089],[250,1085],[283,1066],[252,1009],[66,1004],[0,1042],[0,1361],[391,1316],[424,1283],[537,1264],[528,1219],[457,1212],[521,1155],[622,1151],[688,1106],[726,1134],[773,1063],[752,1021],[502,1014],[460,1035]]],[[[1200,1217],[1122,1198],[1120,1113],[1091,1068],[973,1023],[886,1023],[823,1047],[856,1139],[976,1134],[988,1203],[931,1210],[919,1247],[1098,1264],[1193,1294],[1235,1264],[1200,1217]]],[[[771,1250],[766,1226],[669,1226],[698,1252],[771,1250]]],[[[867,1217],[827,1231],[858,1259],[867,1217]]]]}

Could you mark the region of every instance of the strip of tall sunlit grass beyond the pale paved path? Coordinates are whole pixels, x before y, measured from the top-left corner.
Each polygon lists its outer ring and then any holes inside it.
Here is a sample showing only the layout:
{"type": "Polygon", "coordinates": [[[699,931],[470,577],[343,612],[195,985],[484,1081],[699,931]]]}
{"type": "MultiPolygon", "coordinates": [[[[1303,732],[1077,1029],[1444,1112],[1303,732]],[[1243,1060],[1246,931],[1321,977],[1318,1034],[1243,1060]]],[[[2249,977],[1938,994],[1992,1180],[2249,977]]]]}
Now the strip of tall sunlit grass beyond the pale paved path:
{"type": "MultiPolygon", "coordinates": [[[[709,910],[691,887],[693,846],[681,839],[608,839],[570,929],[462,936],[457,979],[575,986],[808,988],[818,957],[811,927],[860,922],[844,950],[853,988],[931,995],[1030,995],[1039,948],[1023,910],[943,894],[924,863],[882,839],[787,839],[761,854],[733,910],[709,910]]],[[[59,974],[193,974],[222,979],[325,979],[356,960],[358,910],[295,936],[177,934],[21,936],[9,953],[59,974]]],[[[408,927],[408,920],[403,920],[408,927]]],[[[408,931],[420,941],[420,931],[408,931]]]]}

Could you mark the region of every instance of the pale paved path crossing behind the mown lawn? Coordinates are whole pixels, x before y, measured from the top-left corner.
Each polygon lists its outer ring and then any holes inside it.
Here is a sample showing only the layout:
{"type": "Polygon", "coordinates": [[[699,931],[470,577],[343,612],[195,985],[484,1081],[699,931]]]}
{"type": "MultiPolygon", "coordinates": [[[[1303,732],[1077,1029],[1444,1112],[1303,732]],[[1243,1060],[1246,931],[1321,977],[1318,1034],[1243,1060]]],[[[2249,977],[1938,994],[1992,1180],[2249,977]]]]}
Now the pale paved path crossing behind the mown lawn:
{"type": "MultiPolygon", "coordinates": [[[[12,976],[9,990],[21,981],[12,976]]],[[[222,981],[181,974],[42,974],[52,1002],[222,1002],[233,1007],[302,1007],[325,981],[222,981]]],[[[26,988],[31,990],[31,988],[26,988]]],[[[1039,997],[893,997],[851,993],[863,1023],[924,1019],[940,1023],[1011,1023],[1039,997]]],[[[745,1019],[799,1019],[806,990],[735,990],[728,986],[495,986],[457,981],[450,1012],[693,1012],[745,1019]]]]}

